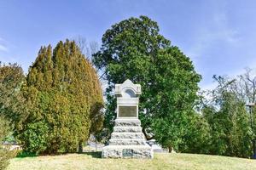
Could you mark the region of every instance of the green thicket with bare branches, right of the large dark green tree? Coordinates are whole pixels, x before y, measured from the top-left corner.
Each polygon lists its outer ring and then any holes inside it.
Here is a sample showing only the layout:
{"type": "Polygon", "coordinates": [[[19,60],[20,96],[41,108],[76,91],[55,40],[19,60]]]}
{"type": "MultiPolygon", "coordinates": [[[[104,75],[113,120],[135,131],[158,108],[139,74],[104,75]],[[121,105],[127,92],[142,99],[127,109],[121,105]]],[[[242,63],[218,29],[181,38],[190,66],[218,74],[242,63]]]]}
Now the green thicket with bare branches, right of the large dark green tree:
{"type": "Polygon", "coordinates": [[[201,116],[203,142],[197,143],[196,140],[189,139],[193,143],[187,142],[187,148],[184,148],[186,144],[182,145],[182,150],[222,156],[253,156],[255,109],[252,106],[253,112],[250,115],[250,108],[246,105],[255,102],[256,77],[252,71],[247,70],[245,74],[235,78],[214,76],[213,79],[217,87],[205,91],[205,97],[197,105],[198,115],[201,116]]]}

